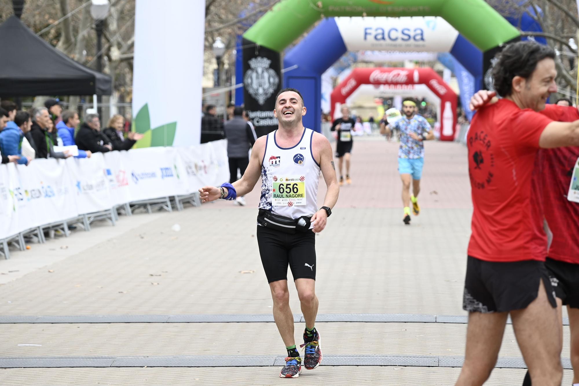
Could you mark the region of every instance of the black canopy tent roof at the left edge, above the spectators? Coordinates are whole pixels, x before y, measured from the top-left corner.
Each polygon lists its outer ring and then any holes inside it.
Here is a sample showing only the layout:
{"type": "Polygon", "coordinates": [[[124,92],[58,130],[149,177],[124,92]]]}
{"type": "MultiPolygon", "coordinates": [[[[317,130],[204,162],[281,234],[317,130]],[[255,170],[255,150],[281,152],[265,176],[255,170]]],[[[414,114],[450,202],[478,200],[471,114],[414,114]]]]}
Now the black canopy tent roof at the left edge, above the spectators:
{"type": "Polygon", "coordinates": [[[37,37],[17,16],[0,26],[0,97],[110,95],[111,83],[37,37]]]}

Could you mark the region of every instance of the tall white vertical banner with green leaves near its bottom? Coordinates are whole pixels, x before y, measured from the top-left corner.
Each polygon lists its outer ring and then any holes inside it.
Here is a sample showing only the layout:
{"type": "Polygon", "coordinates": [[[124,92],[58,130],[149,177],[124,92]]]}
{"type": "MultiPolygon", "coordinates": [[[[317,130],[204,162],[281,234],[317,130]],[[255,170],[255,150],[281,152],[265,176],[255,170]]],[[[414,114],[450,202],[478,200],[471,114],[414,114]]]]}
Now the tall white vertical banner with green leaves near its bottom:
{"type": "Polygon", "coordinates": [[[133,123],[145,137],[136,148],[199,144],[204,41],[205,0],[137,0],[133,123]]]}

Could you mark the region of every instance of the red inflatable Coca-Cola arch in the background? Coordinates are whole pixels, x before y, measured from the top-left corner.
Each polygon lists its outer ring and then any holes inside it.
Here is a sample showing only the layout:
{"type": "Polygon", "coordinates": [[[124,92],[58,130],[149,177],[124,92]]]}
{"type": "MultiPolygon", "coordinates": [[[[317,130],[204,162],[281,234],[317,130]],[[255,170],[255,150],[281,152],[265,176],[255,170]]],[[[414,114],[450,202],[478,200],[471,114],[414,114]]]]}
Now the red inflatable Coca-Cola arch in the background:
{"type": "Polygon", "coordinates": [[[441,110],[438,117],[442,141],[453,141],[456,130],[456,93],[442,80],[432,68],[384,68],[358,67],[340,83],[331,94],[331,116],[334,116],[336,104],[346,103],[360,85],[426,85],[440,98],[441,110]],[[452,124],[450,114],[452,114],[452,124]]]}

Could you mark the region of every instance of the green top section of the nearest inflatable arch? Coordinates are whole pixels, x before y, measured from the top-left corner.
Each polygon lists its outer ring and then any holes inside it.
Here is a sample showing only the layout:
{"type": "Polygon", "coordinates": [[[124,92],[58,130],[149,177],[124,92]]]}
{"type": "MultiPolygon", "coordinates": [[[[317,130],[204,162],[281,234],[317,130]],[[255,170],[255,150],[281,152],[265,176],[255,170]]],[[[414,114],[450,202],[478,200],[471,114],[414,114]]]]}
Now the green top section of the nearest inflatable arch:
{"type": "Polygon", "coordinates": [[[317,20],[334,16],[441,16],[482,52],[521,35],[483,0],[284,0],[243,37],[281,52],[317,20]]]}

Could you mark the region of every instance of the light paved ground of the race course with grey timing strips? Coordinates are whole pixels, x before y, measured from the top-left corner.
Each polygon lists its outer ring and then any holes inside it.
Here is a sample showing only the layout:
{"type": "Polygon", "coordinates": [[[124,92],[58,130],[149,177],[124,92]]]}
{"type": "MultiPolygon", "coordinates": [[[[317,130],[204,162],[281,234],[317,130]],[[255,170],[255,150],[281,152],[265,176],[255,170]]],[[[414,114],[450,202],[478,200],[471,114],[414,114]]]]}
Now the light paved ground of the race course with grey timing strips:
{"type": "MultiPolygon", "coordinates": [[[[0,260],[0,367],[11,367],[0,384],[452,385],[466,336],[466,148],[426,144],[422,213],[406,227],[397,144],[355,140],[353,184],[316,237],[318,369],[277,377],[284,344],[255,239],[256,188],[245,207],[121,216],[0,260]]],[[[320,205],[324,192],[321,182],[320,205]]],[[[290,297],[299,342],[291,286],[290,297]]],[[[510,325],[499,356],[524,366],[510,325]]],[[[487,384],[520,385],[525,371],[497,368],[487,384]]]]}

